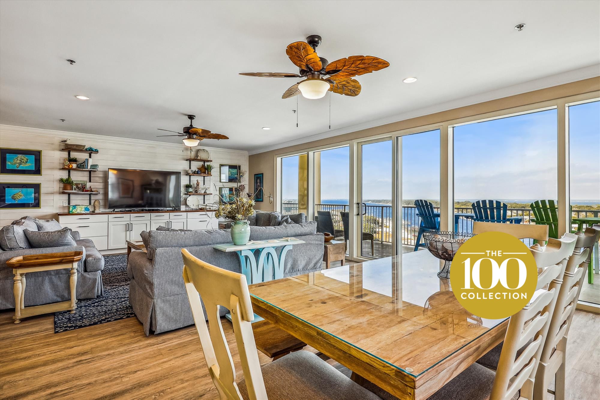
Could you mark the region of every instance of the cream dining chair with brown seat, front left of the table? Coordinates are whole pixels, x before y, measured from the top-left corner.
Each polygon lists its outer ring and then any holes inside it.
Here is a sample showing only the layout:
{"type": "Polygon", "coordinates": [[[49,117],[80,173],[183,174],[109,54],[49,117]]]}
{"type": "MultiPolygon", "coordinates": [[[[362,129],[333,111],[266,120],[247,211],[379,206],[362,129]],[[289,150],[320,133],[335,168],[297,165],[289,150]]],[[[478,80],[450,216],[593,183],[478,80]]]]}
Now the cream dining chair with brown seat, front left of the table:
{"type": "MultiPolygon", "coordinates": [[[[262,369],[254,343],[254,314],[246,277],[203,262],[182,249],[185,290],[212,381],[221,399],[368,399],[380,400],[310,351],[287,354],[262,369]],[[200,295],[208,315],[202,312],[200,295]],[[244,378],[235,367],[223,333],[219,306],[231,312],[244,378]]],[[[192,383],[193,384],[193,383],[192,383]]]]}

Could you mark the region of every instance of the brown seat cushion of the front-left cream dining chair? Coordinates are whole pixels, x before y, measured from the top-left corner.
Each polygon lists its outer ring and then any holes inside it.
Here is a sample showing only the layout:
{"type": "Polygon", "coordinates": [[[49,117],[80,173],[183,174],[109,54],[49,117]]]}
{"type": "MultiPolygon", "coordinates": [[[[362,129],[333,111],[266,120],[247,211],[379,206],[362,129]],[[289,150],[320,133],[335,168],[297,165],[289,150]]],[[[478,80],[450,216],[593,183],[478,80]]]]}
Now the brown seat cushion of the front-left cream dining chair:
{"type": "MultiPolygon", "coordinates": [[[[263,366],[262,374],[269,400],[380,400],[310,351],[287,354],[263,366]]],[[[238,387],[242,398],[250,399],[244,379],[238,387]]]]}

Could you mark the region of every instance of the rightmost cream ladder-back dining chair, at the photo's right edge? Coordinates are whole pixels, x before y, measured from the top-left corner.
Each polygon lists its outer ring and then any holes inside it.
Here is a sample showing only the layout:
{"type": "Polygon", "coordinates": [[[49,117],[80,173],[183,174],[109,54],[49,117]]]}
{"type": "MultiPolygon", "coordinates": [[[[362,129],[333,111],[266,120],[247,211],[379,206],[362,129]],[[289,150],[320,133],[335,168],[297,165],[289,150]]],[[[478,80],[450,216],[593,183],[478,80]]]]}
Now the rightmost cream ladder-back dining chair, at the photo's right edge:
{"type": "Polygon", "coordinates": [[[566,264],[563,283],[560,286],[556,308],[550,320],[548,336],[544,343],[539,368],[535,377],[533,398],[542,400],[548,397],[550,384],[554,378],[554,399],[565,398],[565,366],[569,328],[575,314],[575,307],[586,277],[587,266],[592,258],[592,248],[600,237],[600,224],[577,232],[575,250],[566,264]]]}

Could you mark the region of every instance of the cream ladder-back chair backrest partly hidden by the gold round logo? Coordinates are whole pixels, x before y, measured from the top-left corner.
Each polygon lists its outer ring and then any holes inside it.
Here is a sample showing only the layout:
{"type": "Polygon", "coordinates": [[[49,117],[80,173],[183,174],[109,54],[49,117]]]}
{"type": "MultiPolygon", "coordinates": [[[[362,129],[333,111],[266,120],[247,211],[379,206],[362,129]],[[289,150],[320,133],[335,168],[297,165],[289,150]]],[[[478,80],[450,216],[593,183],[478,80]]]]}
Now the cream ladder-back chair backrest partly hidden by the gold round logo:
{"type": "Polygon", "coordinates": [[[513,315],[508,323],[490,398],[508,400],[517,390],[521,390],[521,397],[533,398],[533,383],[542,348],[566,263],[576,241],[575,235],[565,234],[559,240],[550,239],[549,247],[530,247],[538,268],[542,269],[542,273],[538,275],[535,300],[513,315]],[[517,351],[531,339],[533,341],[517,358],[517,351]]]}

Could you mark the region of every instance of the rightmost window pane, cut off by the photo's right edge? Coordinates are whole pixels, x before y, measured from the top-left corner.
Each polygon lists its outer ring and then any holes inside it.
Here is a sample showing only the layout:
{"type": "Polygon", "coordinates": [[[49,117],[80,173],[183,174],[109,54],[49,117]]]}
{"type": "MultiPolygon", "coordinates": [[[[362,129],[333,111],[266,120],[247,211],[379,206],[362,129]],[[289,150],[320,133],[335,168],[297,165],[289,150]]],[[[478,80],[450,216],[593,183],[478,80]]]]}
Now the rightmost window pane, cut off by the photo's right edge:
{"type": "MultiPolygon", "coordinates": [[[[572,105],[569,115],[569,160],[572,229],[583,229],[600,214],[600,102],[572,105]]],[[[600,304],[598,244],[593,274],[586,276],[580,300],[600,304]]]]}

